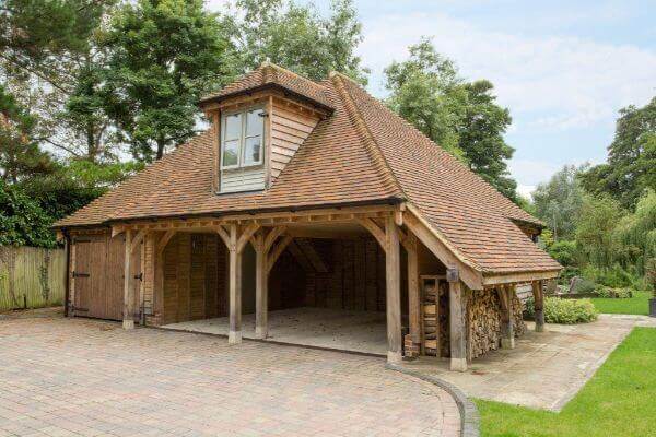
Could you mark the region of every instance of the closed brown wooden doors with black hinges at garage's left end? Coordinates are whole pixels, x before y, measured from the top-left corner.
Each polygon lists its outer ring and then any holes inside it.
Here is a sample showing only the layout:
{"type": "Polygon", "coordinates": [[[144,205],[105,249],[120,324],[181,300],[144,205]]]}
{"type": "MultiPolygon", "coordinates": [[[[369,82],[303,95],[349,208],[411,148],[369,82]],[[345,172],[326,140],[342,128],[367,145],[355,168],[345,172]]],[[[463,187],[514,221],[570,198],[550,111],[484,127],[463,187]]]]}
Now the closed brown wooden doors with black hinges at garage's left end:
{"type": "MultiPolygon", "coordinates": [[[[121,320],[124,299],[125,235],[112,238],[108,229],[77,233],[72,237],[75,259],[71,263],[74,276],[73,315],[98,319],[121,320]]],[[[138,312],[141,282],[133,279],[141,271],[141,253],[131,259],[134,308],[138,312]]],[[[138,315],[136,315],[138,316],[138,315]]]]}

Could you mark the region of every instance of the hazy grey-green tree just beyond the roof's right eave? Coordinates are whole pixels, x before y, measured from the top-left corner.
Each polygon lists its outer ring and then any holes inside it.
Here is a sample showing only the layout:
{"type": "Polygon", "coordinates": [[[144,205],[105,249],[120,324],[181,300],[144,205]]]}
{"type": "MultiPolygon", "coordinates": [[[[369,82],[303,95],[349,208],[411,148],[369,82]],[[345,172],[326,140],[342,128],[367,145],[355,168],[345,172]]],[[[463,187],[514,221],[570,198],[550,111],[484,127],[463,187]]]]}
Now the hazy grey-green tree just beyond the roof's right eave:
{"type": "Polygon", "coordinates": [[[557,240],[574,237],[584,198],[578,176],[585,169],[565,165],[532,192],[536,215],[553,231],[557,240]]]}

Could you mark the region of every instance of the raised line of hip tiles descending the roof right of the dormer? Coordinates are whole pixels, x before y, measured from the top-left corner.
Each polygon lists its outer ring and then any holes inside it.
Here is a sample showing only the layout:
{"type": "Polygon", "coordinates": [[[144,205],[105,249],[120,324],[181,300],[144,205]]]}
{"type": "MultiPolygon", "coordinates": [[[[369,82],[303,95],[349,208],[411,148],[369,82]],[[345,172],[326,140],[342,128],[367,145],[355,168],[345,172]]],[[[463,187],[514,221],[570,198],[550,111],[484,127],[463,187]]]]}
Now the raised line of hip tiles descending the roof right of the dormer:
{"type": "MultiPolygon", "coordinates": [[[[395,194],[401,194],[403,198],[407,199],[408,197],[403,192],[401,185],[399,184],[396,176],[394,175],[394,172],[391,170],[389,163],[387,163],[387,160],[385,158],[385,155],[380,151],[378,143],[374,139],[374,135],[372,134],[368,127],[366,126],[366,121],[364,121],[364,118],[362,117],[360,109],[358,109],[358,106],[355,105],[353,97],[351,96],[351,94],[349,93],[349,91],[347,90],[344,84],[342,83],[342,80],[343,80],[342,78],[345,78],[345,75],[338,73],[338,72],[331,72],[329,78],[332,80],[332,83],[335,84],[335,88],[337,90],[337,93],[342,98],[342,101],[344,103],[344,108],[350,116],[349,118],[352,119],[352,122],[355,127],[355,130],[358,131],[358,134],[364,140],[364,145],[366,147],[367,154],[374,162],[374,166],[375,166],[377,173],[387,182],[387,188],[391,188],[391,190],[395,191],[394,192],[395,194]]],[[[349,81],[352,81],[352,80],[349,78],[349,81]]],[[[355,83],[355,82],[353,82],[353,83],[355,83]]]]}

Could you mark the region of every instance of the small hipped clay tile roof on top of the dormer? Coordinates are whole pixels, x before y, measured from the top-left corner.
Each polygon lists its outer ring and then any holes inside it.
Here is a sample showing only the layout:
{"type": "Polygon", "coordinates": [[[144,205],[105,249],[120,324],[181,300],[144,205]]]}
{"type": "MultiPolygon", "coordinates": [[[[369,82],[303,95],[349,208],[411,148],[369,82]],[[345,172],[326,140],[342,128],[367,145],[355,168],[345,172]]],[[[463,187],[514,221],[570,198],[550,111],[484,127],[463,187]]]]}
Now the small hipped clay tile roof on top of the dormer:
{"type": "Polygon", "coordinates": [[[200,99],[200,103],[203,105],[208,102],[221,101],[229,96],[268,86],[278,86],[293,93],[297,97],[304,97],[318,104],[326,109],[333,109],[326,96],[324,86],[268,61],[265,61],[256,70],[243,75],[221,91],[206,95],[200,99]]]}

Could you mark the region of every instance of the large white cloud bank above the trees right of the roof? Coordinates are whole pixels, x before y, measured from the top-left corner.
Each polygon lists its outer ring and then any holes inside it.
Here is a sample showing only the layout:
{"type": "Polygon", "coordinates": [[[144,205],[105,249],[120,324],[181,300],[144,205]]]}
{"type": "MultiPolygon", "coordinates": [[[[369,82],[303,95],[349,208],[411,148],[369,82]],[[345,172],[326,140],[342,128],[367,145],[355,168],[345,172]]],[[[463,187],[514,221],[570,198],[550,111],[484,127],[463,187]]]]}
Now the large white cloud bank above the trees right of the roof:
{"type": "Polygon", "coordinates": [[[577,37],[487,31],[443,13],[373,16],[360,54],[372,68],[372,92],[385,94],[383,69],[408,45],[433,36],[437,50],[469,79],[485,78],[513,114],[548,114],[527,128],[581,128],[612,122],[617,110],[645,104],[656,91],[656,52],[577,37]]]}

